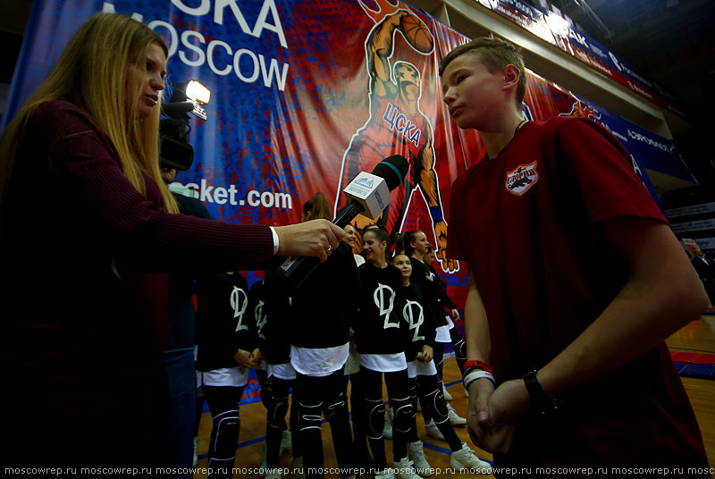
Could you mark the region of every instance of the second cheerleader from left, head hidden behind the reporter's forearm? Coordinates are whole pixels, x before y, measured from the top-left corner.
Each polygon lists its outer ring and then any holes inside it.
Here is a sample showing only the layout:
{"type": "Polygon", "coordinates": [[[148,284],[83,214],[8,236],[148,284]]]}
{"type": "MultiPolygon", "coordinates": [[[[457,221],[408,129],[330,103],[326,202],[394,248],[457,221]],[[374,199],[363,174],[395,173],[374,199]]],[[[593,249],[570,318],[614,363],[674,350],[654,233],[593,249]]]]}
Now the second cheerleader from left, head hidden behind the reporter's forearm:
{"type": "Polygon", "coordinates": [[[295,384],[296,372],[290,366],[289,298],[276,273],[266,273],[250,290],[248,311],[253,315],[257,336],[257,374],[261,381],[261,400],[267,410],[265,424],[265,456],[261,475],[266,479],[281,479],[283,450],[293,451],[291,469],[302,469],[302,448],[299,441],[298,408],[290,408],[290,429],[285,415],[288,412],[290,388],[295,384]]]}

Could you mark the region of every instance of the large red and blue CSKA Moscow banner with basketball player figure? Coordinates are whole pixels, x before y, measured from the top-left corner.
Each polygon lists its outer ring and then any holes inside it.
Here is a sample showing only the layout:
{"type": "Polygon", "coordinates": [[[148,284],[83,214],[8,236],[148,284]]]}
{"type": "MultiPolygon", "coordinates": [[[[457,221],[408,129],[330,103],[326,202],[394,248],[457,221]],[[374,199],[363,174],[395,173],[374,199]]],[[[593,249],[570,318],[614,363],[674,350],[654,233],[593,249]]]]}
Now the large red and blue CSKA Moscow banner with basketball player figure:
{"type": "MultiPolygon", "coordinates": [[[[475,131],[451,122],[438,66],[468,38],[396,0],[36,0],[4,122],[73,31],[103,11],[133,16],[165,39],[164,98],[186,80],[211,90],[206,121],[190,121],[194,164],[177,181],[214,218],[298,223],[317,191],[337,211],[358,172],[403,155],[408,175],[380,221],[389,231],[425,231],[438,248],[437,271],[464,304],[466,268],[444,253],[450,186],[483,158],[484,147],[475,131]]],[[[671,174],[690,179],[669,140],[532,74],[524,112],[530,120],[571,114],[605,124],[651,190],[641,158],[660,158],[675,165],[671,174]]]]}

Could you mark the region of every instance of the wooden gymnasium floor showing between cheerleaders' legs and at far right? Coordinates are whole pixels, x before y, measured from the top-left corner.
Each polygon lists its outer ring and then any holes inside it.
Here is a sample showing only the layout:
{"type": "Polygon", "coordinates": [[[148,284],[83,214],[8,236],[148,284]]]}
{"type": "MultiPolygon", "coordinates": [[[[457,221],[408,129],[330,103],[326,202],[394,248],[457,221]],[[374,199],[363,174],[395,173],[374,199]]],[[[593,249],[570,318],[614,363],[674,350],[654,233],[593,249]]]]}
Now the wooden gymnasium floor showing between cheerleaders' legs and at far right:
{"type": "MultiPolygon", "coordinates": [[[[715,315],[702,315],[701,319],[688,324],[685,328],[673,334],[667,340],[667,343],[671,351],[715,354],[715,315]]],[[[444,361],[444,382],[448,384],[448,390],[454,398],[450,404],[457,410],[459,416],[466,416],[467,399],[464,397],[464,388],[462,388],[459,379],[458,367],[454,357],[446,357],[444,361]]],[[[702,439],[705,442],[708,459],[711,466],[715,466],[715,381],[713,381],[713,379],[695,377],[683,377],[682,379],[701,427],[702,439]]],[[[257,478],[259,477],[257,472],[250,471],[249,469],[257,469],[263,459],[262,447],[265,445],[265,408],[259,401],[241,406],[240,418],[240,445],[236,451],[235,466],[246,469],[236,474],[235,477],[257,478]]],[[[206,451],[208,450],[208,436],[211,433],[211,423],[211,415],[204,413],[199,428],[198,473],[194,475],[196,479],[206,477],[205,468],[208,463],[206,451]]],[[[467,441],[470,447],[472,447],[466,428],[461,426],[455,429],[459,438],[462,441],[467,441]]],[[[446,442],[426,436],[422,423],[422,415],[420,414],[417,414],[417,430],[420,439],[425,442],[427,460],[434,468],[433,477],[440,477],[439,473],[442,473],[442,477],[453,476],[450,473],[450,450],[446,442]]],[[[337,461],[332,451],[332,439],[328,424],[323,424],[323,442],[325,467],[337,467],[337,461]]],[[[387,458],[391,458],[391,446],[391,441],[385,441],[387,458]]],[[[488,461],[492,460],[491,454],[474,447],[473,449],[475,449],[475,453],[479,458],[488,461]]],[[[290,452],[287,452],[282,456],[281,465],[282,467],[288,467],[289,464],[290,452]]],[[[290,476],[283,475],[283,477],[290,476]]],[[[339,478],[340,475],[328,474],[325,475],[325,477],[339,478]]],[[[493,476],[482,475],[481,477],[488,478],[493,476]]]]}

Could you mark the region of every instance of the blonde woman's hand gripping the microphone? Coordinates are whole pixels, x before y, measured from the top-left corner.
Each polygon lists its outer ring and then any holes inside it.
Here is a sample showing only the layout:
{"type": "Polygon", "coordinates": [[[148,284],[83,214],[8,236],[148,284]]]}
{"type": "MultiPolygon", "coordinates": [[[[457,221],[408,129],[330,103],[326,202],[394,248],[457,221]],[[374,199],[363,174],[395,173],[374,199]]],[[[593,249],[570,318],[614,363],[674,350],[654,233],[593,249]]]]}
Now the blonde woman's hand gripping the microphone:
{"type": "Polygon", "coordinates": [[[317,256],[321,261],[325,261],[332,248],[338,248],[340,240],[345,236],[340,226],[327,220],[273,228],[278,235],[279,256],[317,256]]]}

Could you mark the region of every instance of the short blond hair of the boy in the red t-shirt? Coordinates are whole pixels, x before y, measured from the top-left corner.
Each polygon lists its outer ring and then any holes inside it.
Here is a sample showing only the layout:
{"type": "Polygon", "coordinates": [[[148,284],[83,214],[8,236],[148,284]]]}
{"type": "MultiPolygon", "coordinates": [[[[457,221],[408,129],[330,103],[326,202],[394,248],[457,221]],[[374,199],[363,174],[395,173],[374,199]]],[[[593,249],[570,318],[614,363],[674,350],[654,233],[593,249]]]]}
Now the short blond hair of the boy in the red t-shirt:
{"type": "Polygon", "coordinates": [[[458,46],[442,58],[442,63],[440,63],[440,77],[442,77],[444,70],[452,60],[466,53],[477,55],[479,62],[481,62],[490,73],[496,73],[507,65],[514,65],[519,69],[520,75],[515,101],[517,108],[521,110],[521,104],[526,95],[526,69],[524,67],[524,57],[521,55],[521,48],[501,38],[476,38],[469,43],[458,46]]]}

